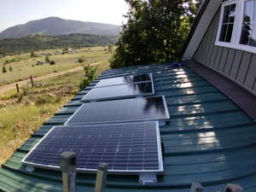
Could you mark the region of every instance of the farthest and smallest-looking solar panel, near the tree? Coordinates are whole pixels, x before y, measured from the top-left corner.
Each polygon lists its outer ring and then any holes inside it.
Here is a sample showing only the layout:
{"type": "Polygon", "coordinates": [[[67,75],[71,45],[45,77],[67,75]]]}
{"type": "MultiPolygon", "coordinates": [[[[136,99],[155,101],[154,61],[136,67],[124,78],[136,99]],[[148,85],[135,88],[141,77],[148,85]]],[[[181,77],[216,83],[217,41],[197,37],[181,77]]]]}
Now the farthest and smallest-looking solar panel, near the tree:
{"type": "Polygon", "coordinates": [[[152,81],[151,73],[102,79],[100,82],[96,84],[96,87],[112,86],[117,84],[132,84],[132,83],[145,82],[145,81],[152,81]]]}

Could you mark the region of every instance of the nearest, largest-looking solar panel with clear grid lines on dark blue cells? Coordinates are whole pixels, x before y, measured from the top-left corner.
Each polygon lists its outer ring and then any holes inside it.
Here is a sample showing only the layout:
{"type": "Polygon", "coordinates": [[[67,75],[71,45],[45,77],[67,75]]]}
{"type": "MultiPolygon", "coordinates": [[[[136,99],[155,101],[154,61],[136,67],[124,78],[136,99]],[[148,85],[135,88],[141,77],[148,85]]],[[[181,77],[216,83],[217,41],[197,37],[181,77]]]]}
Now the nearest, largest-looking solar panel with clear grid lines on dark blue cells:
{"type": "Polygon", "coordinates": [[[160,131],[155,121],[55,126],[22,162],[59,169],[64,151],[77,154],[80,172],[95,172],[100,163],[108,163],[108,171],[113,173],[163,172],[160,131]]]}

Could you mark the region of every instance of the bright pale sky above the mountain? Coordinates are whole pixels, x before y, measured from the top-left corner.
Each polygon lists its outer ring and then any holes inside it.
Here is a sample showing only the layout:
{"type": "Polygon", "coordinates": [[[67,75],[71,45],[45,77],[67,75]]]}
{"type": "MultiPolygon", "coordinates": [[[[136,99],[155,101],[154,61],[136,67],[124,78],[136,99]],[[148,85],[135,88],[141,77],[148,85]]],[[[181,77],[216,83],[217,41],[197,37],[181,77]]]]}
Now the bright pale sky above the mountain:
{"type": "Polygon", "coordinates": [[[0,0],[0,32],[49,16],[121,25],[127,11],[125,0],[0,0]]]}

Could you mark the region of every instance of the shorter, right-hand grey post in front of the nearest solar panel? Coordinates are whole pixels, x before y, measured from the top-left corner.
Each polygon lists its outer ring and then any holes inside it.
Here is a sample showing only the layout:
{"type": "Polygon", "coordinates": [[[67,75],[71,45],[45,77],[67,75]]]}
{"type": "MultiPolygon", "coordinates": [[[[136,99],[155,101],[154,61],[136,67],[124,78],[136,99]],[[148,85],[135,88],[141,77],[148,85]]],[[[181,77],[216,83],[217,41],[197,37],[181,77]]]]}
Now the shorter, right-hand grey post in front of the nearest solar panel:
{"type": "Polygon", "coordinates": [[[108,174],[108,164],[102,163],[98,166],[96,175],[95,192],[104,192],[108,174]]]}

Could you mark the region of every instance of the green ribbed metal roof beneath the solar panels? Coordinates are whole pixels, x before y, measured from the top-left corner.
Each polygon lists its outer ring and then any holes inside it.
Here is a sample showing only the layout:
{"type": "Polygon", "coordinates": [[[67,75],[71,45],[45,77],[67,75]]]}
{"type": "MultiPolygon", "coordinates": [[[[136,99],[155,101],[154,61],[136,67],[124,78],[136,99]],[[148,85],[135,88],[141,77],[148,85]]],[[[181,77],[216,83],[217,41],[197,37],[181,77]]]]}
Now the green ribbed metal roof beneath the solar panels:
{"type": "MultiPolygon", "coordinates": [[[[99,79],[129,73],[153,73],[155,95],[166,96],[170,121],[160,127],[165,173],[158,183],[140,184],[137,176],[108,176],[106,191],[189,191],[200,182],[204,191],[237,183],[256,191],[256,124],[227,96],[194,73],[174,64],[109,70],[79,92],[0,169],[0,191],[62,191],[61,172],[26,172],[20,160],[54,125],[63,125],[80,99],[99,79]]],[[[94,191],[96,175],[79,173],[78,191],[94,191]]]]}

